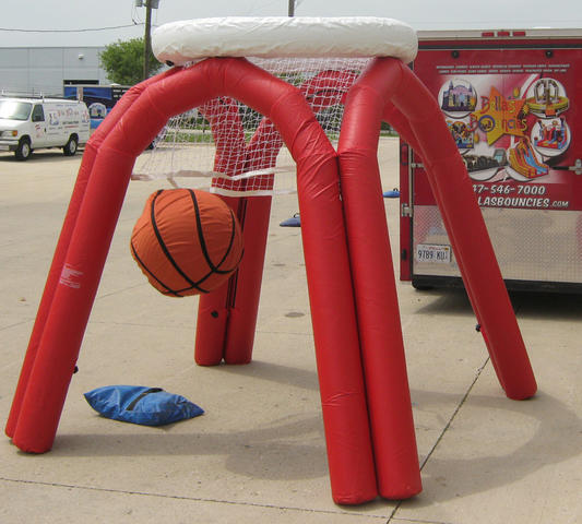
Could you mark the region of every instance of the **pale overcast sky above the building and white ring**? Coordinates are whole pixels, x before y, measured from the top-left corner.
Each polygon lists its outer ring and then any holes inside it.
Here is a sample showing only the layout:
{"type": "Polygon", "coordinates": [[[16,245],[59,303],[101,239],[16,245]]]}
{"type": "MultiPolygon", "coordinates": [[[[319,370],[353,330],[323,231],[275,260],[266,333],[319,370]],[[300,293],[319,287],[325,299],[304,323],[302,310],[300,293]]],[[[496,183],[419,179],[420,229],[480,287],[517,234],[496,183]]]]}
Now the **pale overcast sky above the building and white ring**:
{"type": "MultiPolygon", "coordinates": [[[[582,27],[581,0],[296,1],[298,16],[387,16],[416,29],[582,27]]],[[[104,46],[144,33],[145,9],[135,0],[1,0],[0,5],[0,47],[104,46]]],[[[153,23],[287,12],[288,0],[159,0],[153,23]]]]}

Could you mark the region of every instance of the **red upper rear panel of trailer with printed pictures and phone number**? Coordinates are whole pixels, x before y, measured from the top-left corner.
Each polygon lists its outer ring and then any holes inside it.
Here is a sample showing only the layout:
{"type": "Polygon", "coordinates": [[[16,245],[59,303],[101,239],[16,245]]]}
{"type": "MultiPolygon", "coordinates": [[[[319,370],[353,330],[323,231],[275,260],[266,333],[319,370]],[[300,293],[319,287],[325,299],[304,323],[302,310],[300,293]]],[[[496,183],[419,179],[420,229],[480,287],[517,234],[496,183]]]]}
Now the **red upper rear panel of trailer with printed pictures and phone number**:
{"type": "Polygon", "coordinates": [[[516,50],[473,50],[458,58],[420,50],[415,71],[438,98],[470,177],[480,182],[475,191],[482,206],[582,210],[582,199],[560,187],[577,176],[567,166],[575,162],[568,153],[582,132],[569,95],[578,52],[563,49],[559,63],[548,57],[534,63],[516,50]],[[523,182],[543,183],[545,198],[491,198],[499,184],[518,196],[523,182]]]}

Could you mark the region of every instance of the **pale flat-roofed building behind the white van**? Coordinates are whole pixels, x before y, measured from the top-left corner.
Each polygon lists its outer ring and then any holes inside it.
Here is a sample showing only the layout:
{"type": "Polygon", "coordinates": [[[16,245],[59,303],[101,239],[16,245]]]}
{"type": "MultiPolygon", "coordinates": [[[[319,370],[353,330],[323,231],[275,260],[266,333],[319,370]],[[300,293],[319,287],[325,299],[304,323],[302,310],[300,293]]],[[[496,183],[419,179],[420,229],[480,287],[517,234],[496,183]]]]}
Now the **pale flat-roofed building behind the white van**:
{"type": "Polygon", "coordinates": [[[0,93],[62,95],[64,83],[108,84],[105,47],[0,47],[0,93]]]}

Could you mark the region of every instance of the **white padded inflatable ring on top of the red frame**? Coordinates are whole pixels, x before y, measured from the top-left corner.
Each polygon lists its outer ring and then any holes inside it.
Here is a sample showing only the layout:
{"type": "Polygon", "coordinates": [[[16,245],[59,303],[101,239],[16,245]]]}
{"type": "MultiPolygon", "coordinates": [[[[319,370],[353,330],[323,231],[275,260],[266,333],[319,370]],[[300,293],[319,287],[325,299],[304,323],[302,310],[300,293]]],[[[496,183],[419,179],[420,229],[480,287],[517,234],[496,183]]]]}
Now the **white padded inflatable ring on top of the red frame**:
{"type": "Polygon", "coordinates": [[[418,39],[409,25],[376,16],[227,16],[161,25],[152,48],[175,66],[210,57],[394,57],[407,63],[418,39]]]}

